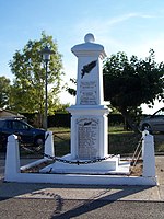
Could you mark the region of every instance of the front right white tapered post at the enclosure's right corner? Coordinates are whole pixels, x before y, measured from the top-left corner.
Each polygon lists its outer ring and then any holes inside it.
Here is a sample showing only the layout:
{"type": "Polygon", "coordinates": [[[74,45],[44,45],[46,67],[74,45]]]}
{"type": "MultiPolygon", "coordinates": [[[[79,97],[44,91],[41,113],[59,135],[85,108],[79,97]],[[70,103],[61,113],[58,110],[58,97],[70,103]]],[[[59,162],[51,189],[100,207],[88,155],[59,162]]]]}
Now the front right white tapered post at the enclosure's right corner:
{"type": "Polygon", "coordinates": [[[154,137],[145,135],[143,145],[143,176],[155,177],[154,137]]]}

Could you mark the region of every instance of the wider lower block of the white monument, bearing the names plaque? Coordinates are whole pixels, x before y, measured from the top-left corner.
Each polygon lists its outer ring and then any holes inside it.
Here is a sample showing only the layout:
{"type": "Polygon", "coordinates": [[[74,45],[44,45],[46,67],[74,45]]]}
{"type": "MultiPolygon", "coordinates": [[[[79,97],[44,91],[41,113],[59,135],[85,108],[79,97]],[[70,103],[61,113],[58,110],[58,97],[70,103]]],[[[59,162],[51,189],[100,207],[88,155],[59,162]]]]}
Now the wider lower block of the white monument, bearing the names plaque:
{"type": "Polygon", "coordinates": [[[108,154],[108,110],[99,107],[69,108],[71,113],[71,158],[97,159],[108,154]]]}

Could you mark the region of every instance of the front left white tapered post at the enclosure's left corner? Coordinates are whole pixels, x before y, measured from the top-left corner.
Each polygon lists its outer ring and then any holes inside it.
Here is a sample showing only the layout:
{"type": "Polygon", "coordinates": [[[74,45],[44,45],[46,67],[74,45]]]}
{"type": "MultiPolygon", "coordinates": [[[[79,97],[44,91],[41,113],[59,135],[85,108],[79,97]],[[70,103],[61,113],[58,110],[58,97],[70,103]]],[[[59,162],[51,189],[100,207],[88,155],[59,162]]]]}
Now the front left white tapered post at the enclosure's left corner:
{"type": "Polygon", "coordinates": [[[16,174],[20,172],[20,150],[17,136],[11,135],[8,137],[7,143],[4,180],[14,180],[16,174]]]}

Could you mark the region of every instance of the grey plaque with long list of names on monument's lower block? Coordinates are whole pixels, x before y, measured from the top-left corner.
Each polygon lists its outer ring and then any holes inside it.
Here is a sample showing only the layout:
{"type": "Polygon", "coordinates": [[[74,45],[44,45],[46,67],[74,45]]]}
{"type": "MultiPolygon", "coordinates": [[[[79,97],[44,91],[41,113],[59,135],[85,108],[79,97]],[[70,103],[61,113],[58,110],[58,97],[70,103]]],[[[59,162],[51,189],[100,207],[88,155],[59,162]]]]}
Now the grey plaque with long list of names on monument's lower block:
{"type": "Polygon", "coordinates": [[[93,117],[77,119],[78,158],[96,159],[99,142],[99,120],[93,117]]]}

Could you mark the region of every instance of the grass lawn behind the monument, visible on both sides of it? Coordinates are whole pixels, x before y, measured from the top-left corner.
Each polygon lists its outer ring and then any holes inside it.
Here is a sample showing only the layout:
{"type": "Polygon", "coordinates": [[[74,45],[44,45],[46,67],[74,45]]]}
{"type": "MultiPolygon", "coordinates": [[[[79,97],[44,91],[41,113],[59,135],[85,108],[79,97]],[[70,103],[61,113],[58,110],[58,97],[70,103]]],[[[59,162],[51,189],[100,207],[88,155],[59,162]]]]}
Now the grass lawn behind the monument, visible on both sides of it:
{"type": "MultiPolygon", "coordinates": [[[[50,128],[54,131],[55,154],[70,153],[70,128],[50,128]]],[[[108,132],[108,151],[110,154],[133,153],[141,134],[125,131],[122,126],[112,126],[108,132]]],[[[154,135],[155,152],[164,152],[164,135],[154,135]]]]}

